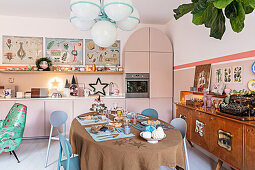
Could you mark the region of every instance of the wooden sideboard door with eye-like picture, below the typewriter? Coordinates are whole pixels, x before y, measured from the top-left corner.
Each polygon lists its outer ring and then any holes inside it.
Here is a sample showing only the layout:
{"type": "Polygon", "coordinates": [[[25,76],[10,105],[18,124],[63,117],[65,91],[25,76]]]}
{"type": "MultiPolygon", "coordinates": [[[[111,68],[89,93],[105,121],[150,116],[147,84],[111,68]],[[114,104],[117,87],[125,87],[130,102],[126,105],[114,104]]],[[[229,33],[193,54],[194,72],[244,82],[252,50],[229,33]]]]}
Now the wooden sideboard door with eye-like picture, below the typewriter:
{"type": "Polygon", "coordinates": [[[230,163],[232,167],[242,169],[243,125],[214,116],[211,116],[209,120],[211,124],[210,152],[230,163]]]}

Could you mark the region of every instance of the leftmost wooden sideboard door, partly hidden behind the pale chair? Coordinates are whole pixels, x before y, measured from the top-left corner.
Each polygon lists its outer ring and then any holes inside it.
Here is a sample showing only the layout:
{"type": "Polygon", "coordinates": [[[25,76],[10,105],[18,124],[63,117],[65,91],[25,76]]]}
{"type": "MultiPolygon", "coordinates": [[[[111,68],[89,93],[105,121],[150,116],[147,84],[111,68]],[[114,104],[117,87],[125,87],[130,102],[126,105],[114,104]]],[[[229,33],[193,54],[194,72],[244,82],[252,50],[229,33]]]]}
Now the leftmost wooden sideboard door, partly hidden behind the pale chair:
{"type": "Polygon", "coordinates": [[[186,107],[176,105],[176,117],[177,118],[183,118],[187,123],[187,134],[186,138],[190,140],[190,133],[191,133],[191,112],[190,109],[187,109],[186,107]]]}

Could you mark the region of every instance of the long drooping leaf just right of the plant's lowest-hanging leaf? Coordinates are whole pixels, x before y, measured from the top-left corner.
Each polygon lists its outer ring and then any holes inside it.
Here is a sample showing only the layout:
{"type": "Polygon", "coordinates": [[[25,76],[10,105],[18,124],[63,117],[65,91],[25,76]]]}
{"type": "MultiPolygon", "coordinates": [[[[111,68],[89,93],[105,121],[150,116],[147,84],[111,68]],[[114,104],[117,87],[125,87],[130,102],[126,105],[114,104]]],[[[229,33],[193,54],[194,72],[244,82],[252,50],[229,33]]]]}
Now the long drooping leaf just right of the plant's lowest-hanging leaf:
{"type": "Polygon", "coordinates": [[[241,2],[236,1],[235,3],[238,16],[234,19],[230,19],[231,27],[235,32],[241,32],[244,28],[245,11],[241,2]]]}

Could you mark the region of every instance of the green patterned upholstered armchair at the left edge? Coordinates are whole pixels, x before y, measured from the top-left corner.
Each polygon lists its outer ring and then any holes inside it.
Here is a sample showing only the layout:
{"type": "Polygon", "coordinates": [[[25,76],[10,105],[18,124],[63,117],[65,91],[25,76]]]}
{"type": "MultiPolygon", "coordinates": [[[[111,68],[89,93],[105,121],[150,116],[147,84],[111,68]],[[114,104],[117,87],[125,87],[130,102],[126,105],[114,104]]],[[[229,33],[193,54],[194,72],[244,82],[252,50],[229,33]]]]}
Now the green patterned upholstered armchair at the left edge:
{"type": "Polygon", "coordinates": [[[26,124],[27,106],[15,103],[5,120],[0,120],[0,154],[13,153],[20,163],[15,150],[18,150],[26,124]]]}

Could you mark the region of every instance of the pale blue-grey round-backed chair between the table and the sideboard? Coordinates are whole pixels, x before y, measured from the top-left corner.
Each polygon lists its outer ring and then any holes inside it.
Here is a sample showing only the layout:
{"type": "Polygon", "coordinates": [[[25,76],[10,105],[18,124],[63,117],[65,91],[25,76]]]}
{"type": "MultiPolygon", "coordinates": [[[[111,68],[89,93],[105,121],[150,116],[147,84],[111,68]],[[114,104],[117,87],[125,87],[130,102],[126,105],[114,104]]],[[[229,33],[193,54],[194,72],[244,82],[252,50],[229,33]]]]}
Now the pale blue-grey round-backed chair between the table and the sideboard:
{"type": "Polygon", "coordinates": [[[186,169],[190,170],[189,167],[189,158],[188,158],[188,152],[187,152],[187,146],[186,146],[186,132],[187,132],[187,123],[182,118],[175,118],[171,121],[171,125],[178,129],[180,133],[182,134],[183,139],[183,145],[184,145],[184,151],[185,151],[185,160],[186,160],[186,169]]]}

